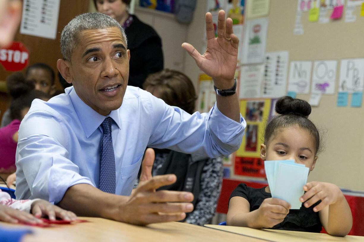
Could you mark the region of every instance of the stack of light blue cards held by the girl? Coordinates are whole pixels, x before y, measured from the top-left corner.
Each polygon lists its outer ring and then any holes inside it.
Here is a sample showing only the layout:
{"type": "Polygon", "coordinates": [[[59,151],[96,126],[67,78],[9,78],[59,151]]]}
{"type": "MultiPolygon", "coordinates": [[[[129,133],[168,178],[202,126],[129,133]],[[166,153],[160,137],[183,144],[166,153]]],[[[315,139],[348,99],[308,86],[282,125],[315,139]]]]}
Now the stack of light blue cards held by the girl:
{"type": "Polygon", "coordinates": [[[308,167],[294,163],[294,160],[285,160],[264,161],[264,168],[272,197],[288,202],[291,209],[300,209],[300,197],[304,194],[308,167]]]}

